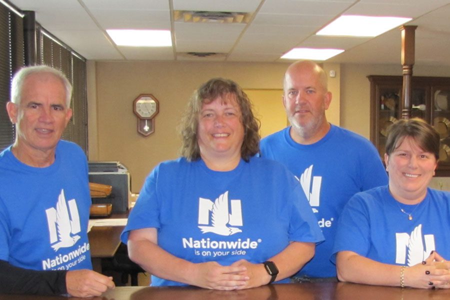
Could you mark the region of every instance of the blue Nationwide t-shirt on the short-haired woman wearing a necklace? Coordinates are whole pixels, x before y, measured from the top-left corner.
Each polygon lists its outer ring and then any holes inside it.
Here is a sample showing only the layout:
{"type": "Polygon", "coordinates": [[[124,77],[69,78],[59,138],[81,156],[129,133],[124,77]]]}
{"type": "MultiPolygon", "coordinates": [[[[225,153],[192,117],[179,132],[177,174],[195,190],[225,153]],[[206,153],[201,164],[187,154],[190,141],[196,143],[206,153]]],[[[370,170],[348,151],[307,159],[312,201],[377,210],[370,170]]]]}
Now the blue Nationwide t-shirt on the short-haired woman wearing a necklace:
{"type": "Polygon", "coordinates": [[[432,250],[450,259],[450,192],[427,188],[418,204],[395,200],[388,186],[355,194],[338,221],[331,259],[353,251],[388,264],[421,263],[432,250]],[[412,219],[401,211],[410,213],[412,219]]]}

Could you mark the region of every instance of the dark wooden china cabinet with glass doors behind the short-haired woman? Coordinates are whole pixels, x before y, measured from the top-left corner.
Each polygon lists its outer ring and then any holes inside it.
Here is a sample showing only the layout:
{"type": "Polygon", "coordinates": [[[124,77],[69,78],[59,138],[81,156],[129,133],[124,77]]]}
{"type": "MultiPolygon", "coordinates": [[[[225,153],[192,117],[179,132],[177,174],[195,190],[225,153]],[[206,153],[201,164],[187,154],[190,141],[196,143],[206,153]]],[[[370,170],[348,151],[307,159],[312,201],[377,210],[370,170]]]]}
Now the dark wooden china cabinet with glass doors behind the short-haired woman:
{"type": "MultiPolygon", "coordinates": [[[[370,140],[384,160],[387,127],[401,118],[402,76],[369,75],[370,140]]],[[[450,77],[413,76],[411,117],[420,117],[440,135],[436,176],[450,176],[450,77]]]]}

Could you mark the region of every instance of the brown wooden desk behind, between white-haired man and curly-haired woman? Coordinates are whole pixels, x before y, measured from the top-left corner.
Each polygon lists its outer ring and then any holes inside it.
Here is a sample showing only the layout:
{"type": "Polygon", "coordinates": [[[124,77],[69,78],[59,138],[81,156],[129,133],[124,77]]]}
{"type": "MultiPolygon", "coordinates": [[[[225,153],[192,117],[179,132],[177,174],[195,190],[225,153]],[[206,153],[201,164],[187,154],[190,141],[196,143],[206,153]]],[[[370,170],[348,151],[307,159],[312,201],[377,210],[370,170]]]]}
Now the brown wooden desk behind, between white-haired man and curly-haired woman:
{"type": "Polygon", "coordinates": [[[89,238],[92,269],[101,273],[101,258],[114,256],[120,245],[120,233],[124,226],[92,226],[89,238]]]}

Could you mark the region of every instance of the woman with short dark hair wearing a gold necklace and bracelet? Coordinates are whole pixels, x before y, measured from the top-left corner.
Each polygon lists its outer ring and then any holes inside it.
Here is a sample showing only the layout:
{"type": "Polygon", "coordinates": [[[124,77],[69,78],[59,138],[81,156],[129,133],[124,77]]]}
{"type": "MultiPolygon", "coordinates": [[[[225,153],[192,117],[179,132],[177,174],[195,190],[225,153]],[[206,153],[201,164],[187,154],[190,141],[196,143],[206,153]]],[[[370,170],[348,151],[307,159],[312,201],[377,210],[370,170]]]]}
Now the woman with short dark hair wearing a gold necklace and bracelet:
{"type": "Polygon", "coordinates": [[[341,281],[449,288],[450,192],[428,186],[439,134],[421,119],[388,129],[387,186],[356,193],[338,220],[333,253],[341,281]]]}

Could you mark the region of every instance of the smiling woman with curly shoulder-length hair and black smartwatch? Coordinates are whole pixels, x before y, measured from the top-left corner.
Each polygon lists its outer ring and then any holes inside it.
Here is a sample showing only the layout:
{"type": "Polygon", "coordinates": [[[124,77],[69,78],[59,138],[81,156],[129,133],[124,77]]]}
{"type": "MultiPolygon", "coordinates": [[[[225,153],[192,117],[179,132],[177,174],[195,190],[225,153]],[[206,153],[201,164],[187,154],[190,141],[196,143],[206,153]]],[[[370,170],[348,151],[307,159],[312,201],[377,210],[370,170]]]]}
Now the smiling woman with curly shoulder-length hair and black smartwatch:
{"type": "Polygon", "coordinates": [[[152,285],[242,289],[289,282],[323,240],[301,185],[255,157],[259,121],[233,81],[213,78],[182,119],[182,157],[146,178],[122,241],[152,285]]]}

